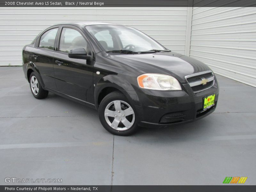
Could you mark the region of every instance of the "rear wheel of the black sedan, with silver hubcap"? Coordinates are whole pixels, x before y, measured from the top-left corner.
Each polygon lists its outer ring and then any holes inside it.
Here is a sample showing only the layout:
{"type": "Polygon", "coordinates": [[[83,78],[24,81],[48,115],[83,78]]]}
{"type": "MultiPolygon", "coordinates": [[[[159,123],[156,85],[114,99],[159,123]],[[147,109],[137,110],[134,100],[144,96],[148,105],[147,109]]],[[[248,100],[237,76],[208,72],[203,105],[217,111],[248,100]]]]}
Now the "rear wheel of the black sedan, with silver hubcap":
{"type": "Polygon", "coordinates": [[[29,85],[32,95],[36,99],[44,99],[48,96],[48,91],[44,90],[42,83],[35,72],[32,72],[29,77],[29,85]]]}

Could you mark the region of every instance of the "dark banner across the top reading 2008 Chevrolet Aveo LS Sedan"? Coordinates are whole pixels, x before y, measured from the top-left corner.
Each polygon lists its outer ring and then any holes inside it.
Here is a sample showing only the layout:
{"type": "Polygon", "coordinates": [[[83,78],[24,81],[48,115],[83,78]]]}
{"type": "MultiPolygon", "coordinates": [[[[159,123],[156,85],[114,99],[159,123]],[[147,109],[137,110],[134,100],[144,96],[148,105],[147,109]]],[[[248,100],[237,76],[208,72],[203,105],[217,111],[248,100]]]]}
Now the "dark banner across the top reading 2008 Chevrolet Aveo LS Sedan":
{"type": "Polygon", "coordinates": [[[0,7],[255,7],[255,0],[0,0],[0,7]]]}

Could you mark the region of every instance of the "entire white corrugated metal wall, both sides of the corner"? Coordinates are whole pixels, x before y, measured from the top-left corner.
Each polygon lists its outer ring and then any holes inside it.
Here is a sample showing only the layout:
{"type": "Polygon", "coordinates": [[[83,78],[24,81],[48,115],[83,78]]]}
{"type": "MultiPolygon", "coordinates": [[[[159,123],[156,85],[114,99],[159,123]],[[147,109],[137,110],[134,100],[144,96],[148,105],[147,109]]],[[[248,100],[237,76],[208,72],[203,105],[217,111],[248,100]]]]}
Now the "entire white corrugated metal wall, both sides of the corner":
{"type": "Polygon", "coordinates": [[[1,7],[0,66],[21,65],[25,44],[44,28],[69,21],[138,28],[174,52],[186,50],[217,74],[256,87],[255,7],[1,7]]]}

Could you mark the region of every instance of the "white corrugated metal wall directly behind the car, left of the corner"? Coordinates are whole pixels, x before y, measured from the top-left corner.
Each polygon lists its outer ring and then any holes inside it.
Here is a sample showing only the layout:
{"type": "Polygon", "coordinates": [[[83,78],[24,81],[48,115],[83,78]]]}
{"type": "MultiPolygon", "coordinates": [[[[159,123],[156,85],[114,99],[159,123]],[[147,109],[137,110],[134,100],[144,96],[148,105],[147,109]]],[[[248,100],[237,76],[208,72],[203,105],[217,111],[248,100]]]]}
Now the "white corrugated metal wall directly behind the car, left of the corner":
{"type": "Polygon", "coordinates": [[[73,21],[100,21],[137,28],[184,54],[187,7],[0,8],[0,65],[21,65],[21,50],[44,28],[73,21]]]}

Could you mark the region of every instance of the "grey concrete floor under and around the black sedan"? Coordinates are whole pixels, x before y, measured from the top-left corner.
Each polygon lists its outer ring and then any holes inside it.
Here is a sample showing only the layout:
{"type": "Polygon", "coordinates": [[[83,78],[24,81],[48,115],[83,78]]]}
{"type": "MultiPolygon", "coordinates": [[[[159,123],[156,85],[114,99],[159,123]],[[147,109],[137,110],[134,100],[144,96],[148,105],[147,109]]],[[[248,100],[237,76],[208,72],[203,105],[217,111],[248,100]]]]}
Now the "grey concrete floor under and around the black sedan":
{"type": "Polygon", "coordinates": [[[101,126],[96,110],[52,93],[36,100],[21,67],[1,67],[0,185],[6,177],[55,178],[62,185],[221,185],[235,176],[255,185],[256,88],[217,78],[218,107],[210,116],[120,137],[101,126]]]}

